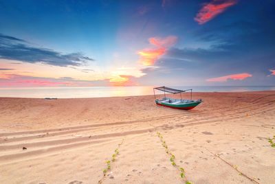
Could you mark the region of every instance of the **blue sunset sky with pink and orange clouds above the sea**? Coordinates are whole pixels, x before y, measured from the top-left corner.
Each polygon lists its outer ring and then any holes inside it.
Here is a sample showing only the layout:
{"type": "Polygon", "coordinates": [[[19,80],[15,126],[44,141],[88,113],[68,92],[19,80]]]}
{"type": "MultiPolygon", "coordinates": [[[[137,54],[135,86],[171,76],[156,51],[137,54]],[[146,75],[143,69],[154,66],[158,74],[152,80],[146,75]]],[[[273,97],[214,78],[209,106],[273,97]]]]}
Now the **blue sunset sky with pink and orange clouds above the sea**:
{"type": "Polygon", "coordinates": [[[275,1],[0,0],[0,87],[275,84],[275,1]]]}

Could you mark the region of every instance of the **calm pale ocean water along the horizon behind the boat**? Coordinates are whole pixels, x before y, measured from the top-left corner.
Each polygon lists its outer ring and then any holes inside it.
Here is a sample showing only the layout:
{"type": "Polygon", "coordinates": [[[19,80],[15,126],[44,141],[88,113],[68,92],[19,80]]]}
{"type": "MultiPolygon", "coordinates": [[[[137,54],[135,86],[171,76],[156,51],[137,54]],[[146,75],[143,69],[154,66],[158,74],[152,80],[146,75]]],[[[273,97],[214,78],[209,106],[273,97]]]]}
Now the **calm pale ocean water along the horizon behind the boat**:
{"type": "MultiPolygon", "coordinates": [[[[274,87],[175,87],[190,89],[194,92],[225,91],[268,91],[274,87]]],[[[153,87],[33,87],[33,88],[0,88],[0,97],[117,97],[134,95],[153,95],[153,87]]]]}

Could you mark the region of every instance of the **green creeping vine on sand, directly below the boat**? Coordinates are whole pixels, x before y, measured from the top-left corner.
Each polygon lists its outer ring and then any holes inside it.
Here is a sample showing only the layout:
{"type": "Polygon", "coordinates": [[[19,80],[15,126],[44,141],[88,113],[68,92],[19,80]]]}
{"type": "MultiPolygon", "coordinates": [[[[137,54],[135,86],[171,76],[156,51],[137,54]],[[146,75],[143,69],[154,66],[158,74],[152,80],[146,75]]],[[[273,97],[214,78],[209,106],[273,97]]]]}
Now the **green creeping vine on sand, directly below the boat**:
{"type": "Polygon", "coordinates": [[[179,172],[180,172],[180,175],[179,175],[179,176],[181,177],[181,179],[184,179],[184,181],[185,181],[186,184],[192,184],[192,183],[190,183],[190,181],[188,181],[188,180],[186,179],[186,175],[185,175],[184,168],[179,168],[179,165],[177,165],[177,164],[175,163],[176,157],[175,157],[175,155],[172,154],[172,153],[170,152],[170,150],[168,149],[168,146],[167,146],[167,144],[166,144],[166,141],[164,141],[164,138],[162,137],[162,134],[159,133],[159,132],[157,132],[157,137],[159,137],[160,141],[162,141],[162,146],[165,148],[166,154],[168,154],[168,155],[170,156],[170,162],[171,162],[171,164],[179,170],[179,172]]]}

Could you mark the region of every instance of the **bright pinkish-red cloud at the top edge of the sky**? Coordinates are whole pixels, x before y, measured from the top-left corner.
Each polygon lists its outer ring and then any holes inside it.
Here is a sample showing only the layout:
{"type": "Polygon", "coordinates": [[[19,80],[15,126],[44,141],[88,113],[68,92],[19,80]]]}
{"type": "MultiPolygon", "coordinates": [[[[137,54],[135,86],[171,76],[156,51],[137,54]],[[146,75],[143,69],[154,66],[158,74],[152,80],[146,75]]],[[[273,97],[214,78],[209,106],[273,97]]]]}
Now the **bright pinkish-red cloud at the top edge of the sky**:
{"type": "Polygon", "coordinates": [[[203,5],[203,8],[197,13],[195,21],[199,24],[206,23],[234,4],[236,4],[236,0],[212,0],[203,5]]]}

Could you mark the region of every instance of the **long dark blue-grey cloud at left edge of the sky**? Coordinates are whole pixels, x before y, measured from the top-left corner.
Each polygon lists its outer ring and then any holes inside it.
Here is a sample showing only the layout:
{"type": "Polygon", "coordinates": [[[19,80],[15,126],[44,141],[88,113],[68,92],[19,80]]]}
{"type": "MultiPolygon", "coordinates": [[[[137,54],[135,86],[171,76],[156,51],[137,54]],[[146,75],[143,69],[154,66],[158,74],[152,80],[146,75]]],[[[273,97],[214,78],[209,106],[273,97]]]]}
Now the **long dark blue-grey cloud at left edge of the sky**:
{"type": "Polygon", "coordinates": [[[54,65],[60,67],[80,66],[93,60],[81,53],[61,54],[61,52],[30,45],[27,41],[0,34],[0,59],[54,65]]]}

